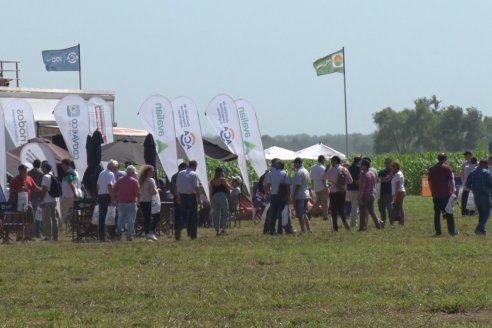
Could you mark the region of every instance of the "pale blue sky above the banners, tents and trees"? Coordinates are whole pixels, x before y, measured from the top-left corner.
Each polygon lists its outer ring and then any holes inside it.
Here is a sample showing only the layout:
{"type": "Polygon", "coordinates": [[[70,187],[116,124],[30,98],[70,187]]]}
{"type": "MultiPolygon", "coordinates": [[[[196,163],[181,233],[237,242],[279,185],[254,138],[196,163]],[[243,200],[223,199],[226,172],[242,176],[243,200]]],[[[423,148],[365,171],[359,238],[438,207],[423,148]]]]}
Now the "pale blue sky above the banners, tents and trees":
{"type": "Polygon", "coordinates": [[[314,60],[345,47],[349,133],[372,113],[435,94],[492,115],[492,2],[5,1],[1,59],[21,61],[21,86],[78,88],[47,72],[41,51],[80,43],[82,86],[116,93],[119,126],[156,93],[197,104],[219,93],[249,100],[263,134],[344,133],[343,75],[314,60]],[[8,29],[6,28],[8,27],[8,29]]]}

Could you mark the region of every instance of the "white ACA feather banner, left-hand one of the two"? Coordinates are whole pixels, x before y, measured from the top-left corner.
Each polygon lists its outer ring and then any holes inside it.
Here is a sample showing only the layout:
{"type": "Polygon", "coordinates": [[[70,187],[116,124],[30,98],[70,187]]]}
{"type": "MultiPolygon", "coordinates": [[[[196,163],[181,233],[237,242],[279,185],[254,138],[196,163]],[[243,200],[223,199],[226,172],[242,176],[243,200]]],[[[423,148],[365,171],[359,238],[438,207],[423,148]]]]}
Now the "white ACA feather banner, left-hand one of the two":
{"type": "Polygon", "coordinates": [[[198,162],[197,174],[202,183],[203,190],[210,200],[208,187],[207,163],[205,150],[203,149],[202,128],[198,110],[193,101],[187,97],[178,97],[173,100],[174,126],[176,138],[183,147],[186,156],[198,162]]]}

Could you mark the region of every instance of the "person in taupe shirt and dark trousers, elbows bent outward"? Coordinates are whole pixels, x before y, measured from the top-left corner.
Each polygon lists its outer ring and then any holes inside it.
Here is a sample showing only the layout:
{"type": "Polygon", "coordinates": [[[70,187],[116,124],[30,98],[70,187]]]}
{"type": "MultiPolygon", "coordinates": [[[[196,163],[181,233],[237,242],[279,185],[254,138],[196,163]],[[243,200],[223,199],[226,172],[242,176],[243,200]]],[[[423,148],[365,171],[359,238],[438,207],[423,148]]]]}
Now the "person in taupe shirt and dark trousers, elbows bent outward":
{"type": "Polygon", "coordinates": [[[333,230],[338,231],[339,215],[345,229],[350,230],[344,209],[347,183],[352,183],[353,179],[348,169],[340,165],[342,162],[340,157],[333,156],[330,161],[331,167],[326,170],[323,177],[327,179],[329,183],[333,230]]]}

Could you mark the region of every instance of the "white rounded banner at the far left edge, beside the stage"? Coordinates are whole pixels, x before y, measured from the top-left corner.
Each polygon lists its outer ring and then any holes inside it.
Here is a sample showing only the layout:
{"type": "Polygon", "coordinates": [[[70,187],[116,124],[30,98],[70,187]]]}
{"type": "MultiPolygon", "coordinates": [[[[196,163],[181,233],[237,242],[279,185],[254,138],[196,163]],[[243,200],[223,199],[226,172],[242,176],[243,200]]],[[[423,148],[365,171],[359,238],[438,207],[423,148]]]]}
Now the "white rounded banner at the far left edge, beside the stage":
{"type": "Polygon", "coordinates": [[[36,137],[34,114],[31,105],[16,99],[7,104],[4,109],[5,128],[15,147],[19,147],[29,139],[36,137]]]}

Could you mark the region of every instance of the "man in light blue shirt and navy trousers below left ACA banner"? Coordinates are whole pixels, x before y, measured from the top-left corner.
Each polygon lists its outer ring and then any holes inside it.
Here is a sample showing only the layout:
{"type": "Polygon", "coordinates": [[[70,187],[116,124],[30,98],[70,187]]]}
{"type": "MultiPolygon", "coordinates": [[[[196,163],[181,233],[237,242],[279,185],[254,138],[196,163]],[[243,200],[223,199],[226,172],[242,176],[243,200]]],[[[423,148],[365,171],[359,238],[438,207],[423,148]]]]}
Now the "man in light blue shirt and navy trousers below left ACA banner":
{"type": "Polygon", "coordinates": [[[181,222],[176,226],[176,240],[181,238],[183,222],[191,239],[196,239],[198,230],[198,203],[200,202],[200,186],[198,175],[195,170],[196,161],[190,161],[186,170],[178,173],[176,178],[176,188],[179,194],[178,203],[180,204],[181,222]]]}

